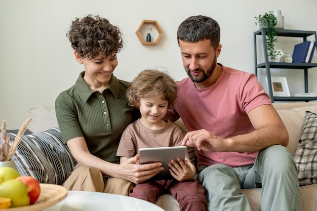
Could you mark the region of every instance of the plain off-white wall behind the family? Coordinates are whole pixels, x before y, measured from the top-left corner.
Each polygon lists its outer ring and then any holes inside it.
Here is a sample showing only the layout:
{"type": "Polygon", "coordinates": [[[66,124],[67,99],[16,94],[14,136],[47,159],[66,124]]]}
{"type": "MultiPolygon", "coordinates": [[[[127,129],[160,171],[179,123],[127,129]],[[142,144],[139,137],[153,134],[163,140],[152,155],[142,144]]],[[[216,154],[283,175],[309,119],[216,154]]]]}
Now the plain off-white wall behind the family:
{"type": "MultiPolygon", "coordinates": [[[[176,30],[188,16],[217,20],[222,30],[218,62],[254,73],[254,17],[282,10],[285,29],[317,30],[316,8],[315,0],[0,0],[0,119],[9,129],[20,128],[32,105],[54,105],[57,95],[73,85],[83,70],[66,38],[76,17],[99,14],[123,29],[126,48],[118,54],[118,78],[130,81],[143,69],[159,68],[180,80],[186,74],[176,30]],[[142,20],[159,22],[164,35],[158,45],[141,45],[135,32],[142,20]]],[[[276,47],[292,54],[296,42],[300,41],[281,39],[276,47]]],[[[315,70],[309,71],[310,92],[317,92],[315,70]]],[[[260,72],[260,81],[264,73],[260,72]]],[[[303,71],[279,70],[272,75],[286,75],[291,94],[303,92],[303,71]]]]}

